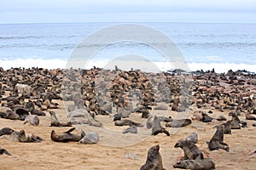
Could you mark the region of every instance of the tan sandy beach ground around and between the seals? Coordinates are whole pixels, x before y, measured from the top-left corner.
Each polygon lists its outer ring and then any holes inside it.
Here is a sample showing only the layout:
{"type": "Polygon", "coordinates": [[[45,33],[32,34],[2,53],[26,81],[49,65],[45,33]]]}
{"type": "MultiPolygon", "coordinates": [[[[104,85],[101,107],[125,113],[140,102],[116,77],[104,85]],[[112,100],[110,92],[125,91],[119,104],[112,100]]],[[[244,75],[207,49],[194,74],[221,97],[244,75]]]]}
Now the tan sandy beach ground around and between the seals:
{"type": "MultiPolygon", "coordinates": [[[[17,72],[19,71],[16,71],[15,76],[20,77],[17,72]]],[[[54,75],[55,72],[56,71],[49,71],[48,74],[54,75]]],[[[5,77],[6,75],[5,72],[2,76],[5,77]]],[[[8,87],[8,83],[4,82],[7,79],[3,77],[1,83],[3,86],[8,87]]],[[[195,78],[195,82],[200,82],[200,88],[197,88],[197,91],[195,90],[194,92],[192,100],[194,100],[195,103],[189,105],[185,111],[172,111],[172,106],[170,105],[168,105],[167,111],[154,110],[156,105],[152,105],[152,110],[149,110],[149,113],[156,116],[172,116],[172,118],[178,117],[177,114],[184,114],[187,118],[191,119],[196,111],[205,111],[208,116],[218,117],[222,115],[226,117],[227,120],[230,120],[231,116],[229,116],[229,113],[230,111],[234,111],[231,108],[224,108],[220,111],[214,108],[211,102],[206,102],[201,108],[198,108],[196,105],[196,101],[200,100],[198,96],[195,95],[196,92],[200,91],[200,89],[202,92],[205,92],[220,87],[224,90],[222,93],[227,94],[232,94],[230,92],[234,90],[234,87],[239,87],[238,94],[244,96],[244,99],[252,98],[255,105],[256,85],[253,83],[247,84],[247,82],[255,82],[255,76],[246,77],[236,75],[238,79],[241,78],[246,81],[244,85],[229,84],[226,83],[227,81],[221,80],[219,75],[217,77],[219,80],[218,85],[212,86],[211,88],[206,88],[206,86],[202,84],[203,82],[214,81],[204,80],[203,78],[198,79],[199,77],[196,77],[197,79],[195,78]],[[242,92],[242,88],[246,90],[242,92]],[[209,114],[208,111],[212,111],[213,113],[209,114]]],[[[45,81],[46,79],[41,77],[41,80],[45,81]]],[[[237,81],[235,80],[234,82],[237,81]]],[[[51,84],[52,82],[49,81],[49,83],[51,84]]],[[[51,86],[51,88],[52,87],[53,86],[51,86]]],[[[5,94],[3,94],[1,99],[2,104],[6,103],[4,98],[8,97],[9,93],[10,91],[7,90],[5,94]]],[[[214,99],[214,101],[215,100],[216,99],[214,99]]],[[[28,101],[28,99],[25,99],[25,101],[28,101]]],[[[222,101],[223,99],[220,99],[221,105],[222,101]]],[[[68,122],[70,120],[67,117],[67,110],[65,109],[67,103],[60,99],[53,99],[52,102],[59,104],[58,109],[48,109],[44,111],[46,116],[39,116],[39,126],[24,125],[23,121],[20,120],[0,118],[0,128],[10,127],[16,131],[24,129],[26,133],[33,133],[44,139],[41,143],[20,143],[11,141],[9,135],[1,136],[0,146],[12,154],[12,156],[0,156],[1,169],[139,169],[147,159],[148,149],[155,144],[160,144],[163,166],[166,170],[169,170],[174,169],[172,165],[183,156],[183,150],[174,148],[174,144],[179,139],[185,139],[185,137],[192,132],[198,134],[199,140],[196,145],[203,152],[205,157],[212,158],[216,164],[216,169],[253,170],[255,168],[256,154],[252,153],[256,150],[256,127],[253,127],[255,121],[246,120],[245,114],[247,111],[241,111],[241,116],[239,116],[241,121],[247,122],[247,127],[232,129],[232,134],[224,134],[224,142],[230,145],[230,152],[226,152],[225,150],[210,151],[206,143],[206,141],[212,138],[212,135],[216,131],[216,128],[213,127],[225,121],[218,122],[213,120],[212,122],[201,122],[199,120],[193,120],[192,123],[186,127],[179,127],[178,129],[166,127],[167,131],[171,133],[170,136],[166,136],[165,133],[152,136],[151,129],[146,127],[147,119],[143,119],[141,113],[135,112],[131,113],[128,119],[134,122],[141,122],[144,127],[138,127],[138,133],[136,134],[123,134],[122,131],[126,126],[114,126],[114,108],[113,113],[109,115],[96,115],[95,119],[101,122],[103,127],[93,127],[88,124],[73,125],[73,127],[76,127],[73,133],[79,134],[80,129],[83,129],[85,133],[98,133],[99,142],[97,144],[78,144],[78,142],[56,143],[50,139],[51,130],[55,130],[56,133],[64,133],[70,129],[70,127],[50,127],[49,111],[55,111],[60,122],[68,122]],[[176,130],[177,132],[175,132],[176,130]]],[[[72,105],[72,102],[69,104],[72,105]]],[[[163,102],[156,102],[156,104],[160,105],[163,104],[163,102]]],[[[38,107],[36,108],[39,109],[38,107]]],[[[253,108],[253,110],[255,109],[256,108],[253,108]]],[[[165,127],[165,122],[161,122],[161,124],[162,127],[165,127]]]]}

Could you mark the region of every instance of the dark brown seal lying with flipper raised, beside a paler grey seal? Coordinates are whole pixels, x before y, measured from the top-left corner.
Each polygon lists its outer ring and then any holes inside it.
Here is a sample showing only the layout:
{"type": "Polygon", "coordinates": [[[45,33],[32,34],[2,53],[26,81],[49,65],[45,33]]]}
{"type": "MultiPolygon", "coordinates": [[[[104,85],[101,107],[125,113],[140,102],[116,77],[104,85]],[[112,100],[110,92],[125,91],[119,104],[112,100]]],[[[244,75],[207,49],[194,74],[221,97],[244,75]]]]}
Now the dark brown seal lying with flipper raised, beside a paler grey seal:
{"type": "Polygon", "coordinates": [[[69,142],[69,141],[75,141],[78,142],[80,139],[82,139],[85,136],[84,131],[81,131],[81,135],[73,134],[73,130],[75,127],[69,129],[65,133],[56,134],[54,130],[50,133],[50,139],[52,139],[55,142],[69,142]]]}

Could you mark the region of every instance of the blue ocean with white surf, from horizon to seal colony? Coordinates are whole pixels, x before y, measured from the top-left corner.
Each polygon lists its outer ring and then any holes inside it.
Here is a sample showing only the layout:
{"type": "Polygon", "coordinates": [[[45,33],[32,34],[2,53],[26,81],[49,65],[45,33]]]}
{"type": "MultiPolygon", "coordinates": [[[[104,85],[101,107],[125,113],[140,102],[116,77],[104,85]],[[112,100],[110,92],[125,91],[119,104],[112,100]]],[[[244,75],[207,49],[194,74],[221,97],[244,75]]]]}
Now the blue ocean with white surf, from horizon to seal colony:
{"type": "MultiPolygon", "coordinates": [[[[109,26],[121,24],[127,23],[2,24],[0,25],[0,66],[4,69],[32,66],[49,69],[66,68],[75,48],[78,48],[79,43],[86,40],[86,37],[109,26]]],[[[256,72],[256,24],[159,22],[133,24],[148,26],[172,40],[183,55],[183,62],[188,65],[189,71],[201,69],[207,71],[214,68],[217,72],[226,72],[230,69],[256,72]]],[[[101,35],[97,35],[99,37],[94,37],[96,41],[92,42],[89,48],[99,47],[99,49],[90,58],[90,64],[87,63],[86,68],[93,65],[107,67],[106,65],[113,60],[119,59],[130,61],[128,65],[127,62],[125,64],[113,62],[113,65],[119,64],[121,69],[127,66],[127,69],[141,67],[137,69],[149,68],[147,71],[150,71],[151,66],[134,65],[142,59],[156,65],[159,71],[177,68],[175,64],[172,65],[175,61],[168,59],[166,61],[158,49],[150,46],[154,43],[157,47],[166,46],[165,41],[154,37],[154,32],[142,34],[132,29],[131,32],[135,37],[147,37],[149,45],[147,42],[127,41],[119,32],[114,32],[109,38],[123,39],[113,43],[98,40],[101,35]],[[168,62],[171,65],[167,65],[168,62]]],[[[114,69],[113,65],[109,68],[114,69]]]]}

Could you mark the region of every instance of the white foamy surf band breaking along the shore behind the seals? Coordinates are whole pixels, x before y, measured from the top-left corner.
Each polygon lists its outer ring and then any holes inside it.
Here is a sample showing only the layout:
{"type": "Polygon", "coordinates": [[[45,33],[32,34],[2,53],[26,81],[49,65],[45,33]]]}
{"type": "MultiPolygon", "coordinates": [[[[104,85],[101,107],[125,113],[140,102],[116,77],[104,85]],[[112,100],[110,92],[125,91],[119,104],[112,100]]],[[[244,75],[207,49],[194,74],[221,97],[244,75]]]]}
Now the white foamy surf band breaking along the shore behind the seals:
{"type": "MultiPolygon", "coordinates": [[[[81,62],[81,61],[78,61],[81,62]]],[[[11,67],[25,67],[25,68],[46,68],[46,69],[65,69],[67,68],[67,60],[64,59],[0,59],[1,66],[7,70],[11,67]]],[[[119,69],[129,71],[132,69],[139,69],[142,71],[170,71],[177,69],[175,64],[169,62],[149,62],[149,61],[110,61],[107,60],[96,60],[90,61],[84,64],[83,69],[90,69],[93,66],[114,69],[114,65],[117,65],[119,69]]],[[[235,64],[235,63],[188,63],[189,71],[208,71],[214,70],[218,73],[227,72],[230,69],[233,71],[246,70],[256,73],[256,65],[247,64],[235,64]]]]}

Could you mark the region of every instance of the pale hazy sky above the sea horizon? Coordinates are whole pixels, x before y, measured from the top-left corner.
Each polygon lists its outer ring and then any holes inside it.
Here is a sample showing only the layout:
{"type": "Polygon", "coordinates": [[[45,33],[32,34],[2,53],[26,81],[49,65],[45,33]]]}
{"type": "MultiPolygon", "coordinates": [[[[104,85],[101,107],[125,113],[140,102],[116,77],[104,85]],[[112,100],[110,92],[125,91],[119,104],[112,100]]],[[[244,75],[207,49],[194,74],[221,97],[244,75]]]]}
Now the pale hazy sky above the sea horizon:
{"type": "Polygon", "coordinates": [[[6,0],[0,23],[256,23],[256,0],[6,0]]]}

